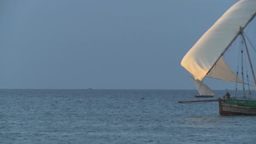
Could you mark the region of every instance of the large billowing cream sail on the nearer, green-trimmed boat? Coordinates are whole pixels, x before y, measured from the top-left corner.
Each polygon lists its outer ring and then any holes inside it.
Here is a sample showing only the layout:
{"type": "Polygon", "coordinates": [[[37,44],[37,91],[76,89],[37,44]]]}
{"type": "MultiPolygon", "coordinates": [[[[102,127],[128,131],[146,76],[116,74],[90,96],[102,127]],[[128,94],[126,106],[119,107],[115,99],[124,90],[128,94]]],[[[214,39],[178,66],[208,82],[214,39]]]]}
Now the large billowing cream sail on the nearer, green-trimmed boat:
{"type": "Polygon", "coordinates": [[[220,56],[237,37],[240,26],[245,27],[255,13],[256,0],[241,0],[234,4],[188,51],[182,59],[181,65],[196,80],[202,81],[205,76],[224,81],[235,80],[236,75],[233,72],[233,74],[224,73],[230,68],[220,56]],[[220,60],[217,62],[219,58],[220,60]],[[214,70],[213,66],[216,62],[217,64],[222,63],[224,71],[214,70]],[[211,70],[211,74],[207,75],[209,70],[211,70]],[[228,78],[226,78],[227,76],[228,78]]]}

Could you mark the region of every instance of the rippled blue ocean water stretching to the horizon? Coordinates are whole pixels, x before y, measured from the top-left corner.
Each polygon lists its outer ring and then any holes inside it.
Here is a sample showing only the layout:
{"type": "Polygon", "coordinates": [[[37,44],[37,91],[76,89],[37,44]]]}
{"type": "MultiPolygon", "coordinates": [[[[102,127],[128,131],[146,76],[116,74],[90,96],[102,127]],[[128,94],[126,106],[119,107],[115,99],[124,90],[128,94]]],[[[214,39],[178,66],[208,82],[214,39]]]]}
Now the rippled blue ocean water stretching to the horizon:
{"type": "Polygon", "coordinates": [[[225,94],[214,92],[1,89],[0,143],[256,143],[255,116],[219,116],[217,102],[177,103],[225,94]]]}

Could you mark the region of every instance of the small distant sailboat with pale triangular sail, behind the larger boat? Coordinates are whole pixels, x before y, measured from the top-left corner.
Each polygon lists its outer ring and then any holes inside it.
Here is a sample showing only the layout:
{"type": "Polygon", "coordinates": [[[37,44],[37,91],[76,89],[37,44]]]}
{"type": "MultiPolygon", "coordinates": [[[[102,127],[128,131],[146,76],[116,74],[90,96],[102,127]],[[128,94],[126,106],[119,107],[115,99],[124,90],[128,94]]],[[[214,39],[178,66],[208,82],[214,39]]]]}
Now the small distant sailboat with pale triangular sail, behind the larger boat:
{"type": "MultiPolygon", "coordinates": [[[[190,77],[190,76],[189,76],[190,77]]],[[[214,97],[214,93],[210,87],[208,87],[205,83],[199,80],[195,80],[193,77],[190,79],[194,82],[198,94],[195,95],[197,98],[211,98],[214,97]]]]}

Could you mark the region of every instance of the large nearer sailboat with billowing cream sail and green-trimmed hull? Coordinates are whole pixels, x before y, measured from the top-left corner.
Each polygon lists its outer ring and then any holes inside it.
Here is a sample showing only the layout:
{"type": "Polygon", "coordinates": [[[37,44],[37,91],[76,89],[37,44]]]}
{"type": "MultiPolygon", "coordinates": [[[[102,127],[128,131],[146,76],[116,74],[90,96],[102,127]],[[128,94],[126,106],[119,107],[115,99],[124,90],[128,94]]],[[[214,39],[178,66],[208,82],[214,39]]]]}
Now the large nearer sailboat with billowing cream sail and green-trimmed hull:
{"type": "MultiPolygon", "coordinates": [[[[208,31],[191,47],[182,59],[181,65],[194,79],[202,82],[206,77],[219,79],[227,82],[241,84],[242,96],[238,98],[237,93],[231,98],[218,98],[219,115],[256,115],[256,100],[252,99],[251,86],[256,89],[253,64],[248,50],[248,39],[245,28],[252,23],[256,15],[256,0],[241,0],[232,5],[222,17],[220,17],[208,31]],[[224,59],[234,41],[240,40],[241,65],[237,71],[231,70],[224,59]],[[251,69],[253,84],[249,83],[249,77],[245,72],[244,62],[248,61],[251,69]],[[238,72],[238,70],[240,72],[238,72]],[[247,79],[247,80],[246,80],[247,79]],[[248,86],[248,90],[245,87],[248,86]],[[249,93],[248,93],[249,92],[249,93]]],[[[237,62],[237,59],[236,61],[237,62]]],[[[239,68],[238,68],[239,67],[239,68]]]]}

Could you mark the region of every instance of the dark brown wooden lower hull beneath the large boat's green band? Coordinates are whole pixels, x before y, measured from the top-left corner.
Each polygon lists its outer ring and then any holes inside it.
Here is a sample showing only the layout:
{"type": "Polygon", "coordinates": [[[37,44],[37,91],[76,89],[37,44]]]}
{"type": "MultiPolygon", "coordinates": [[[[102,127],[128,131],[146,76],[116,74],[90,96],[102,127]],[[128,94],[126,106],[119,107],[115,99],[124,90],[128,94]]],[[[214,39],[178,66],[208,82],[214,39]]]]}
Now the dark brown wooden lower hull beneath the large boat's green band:
{"type": "Polygon", "coordinates": [[[256,115],[256,107],[228,104],[219,100],[219,115],[256,115]]]}

